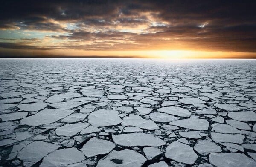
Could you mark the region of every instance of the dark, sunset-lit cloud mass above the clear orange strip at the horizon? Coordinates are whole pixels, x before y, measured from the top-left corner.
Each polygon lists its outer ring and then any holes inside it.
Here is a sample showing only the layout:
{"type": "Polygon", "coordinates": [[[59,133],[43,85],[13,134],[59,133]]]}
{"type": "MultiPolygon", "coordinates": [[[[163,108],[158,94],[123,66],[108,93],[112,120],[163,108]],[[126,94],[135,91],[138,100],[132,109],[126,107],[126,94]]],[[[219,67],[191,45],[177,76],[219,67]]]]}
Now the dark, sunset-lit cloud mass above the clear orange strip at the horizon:
{"type": "Polygon", "coordinates": [[[0,29],[60,32],[65,34],[50,37],[93,42],[63,41],[52,48],[145,49],[183,43],[188,49],[256,52],[255,6],[249,0],[6,0],[0,2],[0,29]]]}

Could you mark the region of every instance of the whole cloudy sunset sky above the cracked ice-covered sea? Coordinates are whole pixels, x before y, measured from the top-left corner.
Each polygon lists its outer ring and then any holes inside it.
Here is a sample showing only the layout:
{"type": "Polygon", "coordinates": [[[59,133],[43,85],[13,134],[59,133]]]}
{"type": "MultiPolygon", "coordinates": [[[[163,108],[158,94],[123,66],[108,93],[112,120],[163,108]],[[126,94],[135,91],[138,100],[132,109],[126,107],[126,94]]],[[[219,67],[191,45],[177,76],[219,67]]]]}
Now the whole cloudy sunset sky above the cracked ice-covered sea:
{"type": "Polygon", "coordinates": [[[0,57],[256,58],[254,0],[1,0],[0,57]]]}

